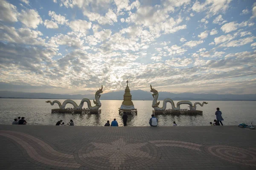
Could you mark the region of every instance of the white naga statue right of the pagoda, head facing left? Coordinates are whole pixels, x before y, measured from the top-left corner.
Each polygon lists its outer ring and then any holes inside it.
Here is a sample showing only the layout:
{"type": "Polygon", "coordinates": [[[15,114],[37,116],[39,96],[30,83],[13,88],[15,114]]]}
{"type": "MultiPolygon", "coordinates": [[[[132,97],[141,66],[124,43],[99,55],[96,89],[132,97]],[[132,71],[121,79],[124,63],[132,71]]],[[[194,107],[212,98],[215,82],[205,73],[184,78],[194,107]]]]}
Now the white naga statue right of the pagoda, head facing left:
{"type": "Polygon", "coordinates": [[[154,108],[155,111],[163,111],[163,110],[166,110],[166,104],[167,102],[171,103],[172,105],[172,110],[173,111],[178,111],[180,110],[180,105],[183,105],[183,104],[186,104],[186,105],[189,105],[189,109],[191,111],[195,111],[196,110],[196,105],[201,105],[201,106],[204,106],[204,104],[208,104],[207,102],[203,102],[203,104],[201,104],[200,102],[195,102],[195,104],[193,105],[192,102],[190,101],[180,101],[180,102],[177,102],[177,108],[175,107],[175,104],[173,102],[172,99],[164,99],[163,100],[163,107],[162,108],[159,108],[158,105],[160,104],[160,102],[157,102],[157,98],[158,98],[158,91],[154,88],[152,88],[152,86],[150,85],[150,88],[151,88],[151,93],[152,96],[153,96],[153,102],[152,102],[152,108],[154,108]]]}

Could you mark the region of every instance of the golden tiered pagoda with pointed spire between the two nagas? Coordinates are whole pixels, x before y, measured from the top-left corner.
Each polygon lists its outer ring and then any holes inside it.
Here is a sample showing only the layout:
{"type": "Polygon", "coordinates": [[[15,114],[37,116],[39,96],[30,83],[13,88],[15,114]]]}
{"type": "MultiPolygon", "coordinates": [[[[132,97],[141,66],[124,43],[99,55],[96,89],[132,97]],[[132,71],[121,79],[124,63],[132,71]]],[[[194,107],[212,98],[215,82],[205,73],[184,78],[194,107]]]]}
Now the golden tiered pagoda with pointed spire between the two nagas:
{"type": "Polygon", "coordinates": [[[134,108],[134,104],[131,101],[130,88],[128,86],[128,80],[126,81],[127,86],[125,88],[124,101],[120,107],[119,113],[137,113],[137,109],[134,108]]]}

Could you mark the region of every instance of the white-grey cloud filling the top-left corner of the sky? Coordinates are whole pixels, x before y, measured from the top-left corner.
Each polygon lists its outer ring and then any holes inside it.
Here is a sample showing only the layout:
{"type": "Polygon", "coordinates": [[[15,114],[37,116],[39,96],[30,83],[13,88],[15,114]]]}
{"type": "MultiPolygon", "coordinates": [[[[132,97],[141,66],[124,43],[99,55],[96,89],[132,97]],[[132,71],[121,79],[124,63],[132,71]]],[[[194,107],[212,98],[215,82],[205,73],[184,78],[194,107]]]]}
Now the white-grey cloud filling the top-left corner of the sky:
{"type": "Polygon", "coordinates": [[[17,7],[8,3],[6,0],[1,0],[0,3],[0,21],[17,22],[18,17],[17,7]]]}

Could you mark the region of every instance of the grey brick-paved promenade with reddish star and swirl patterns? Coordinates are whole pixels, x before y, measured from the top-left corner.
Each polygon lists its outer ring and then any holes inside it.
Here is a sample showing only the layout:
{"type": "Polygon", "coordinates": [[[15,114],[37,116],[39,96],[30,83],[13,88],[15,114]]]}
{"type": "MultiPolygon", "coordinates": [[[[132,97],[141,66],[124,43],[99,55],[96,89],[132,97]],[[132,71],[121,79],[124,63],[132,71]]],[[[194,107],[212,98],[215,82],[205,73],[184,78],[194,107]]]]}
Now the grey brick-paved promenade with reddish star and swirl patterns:
{"type": "Polygon", "coordinates": [[[0,125],[0,169],[253,170],[256,130],[0,125]]]}

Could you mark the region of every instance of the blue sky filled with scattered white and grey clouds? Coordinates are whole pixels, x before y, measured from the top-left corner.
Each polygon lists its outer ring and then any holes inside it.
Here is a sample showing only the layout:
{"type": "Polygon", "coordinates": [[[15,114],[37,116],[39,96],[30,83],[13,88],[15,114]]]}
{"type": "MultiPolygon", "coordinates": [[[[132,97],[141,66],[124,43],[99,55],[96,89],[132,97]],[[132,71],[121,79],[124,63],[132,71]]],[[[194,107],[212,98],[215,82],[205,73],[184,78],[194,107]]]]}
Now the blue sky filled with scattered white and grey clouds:
{"type": "Polygon", "coordinates": [[[0,91],[256,94],[253,0],[0,0],[0,91]]]}

